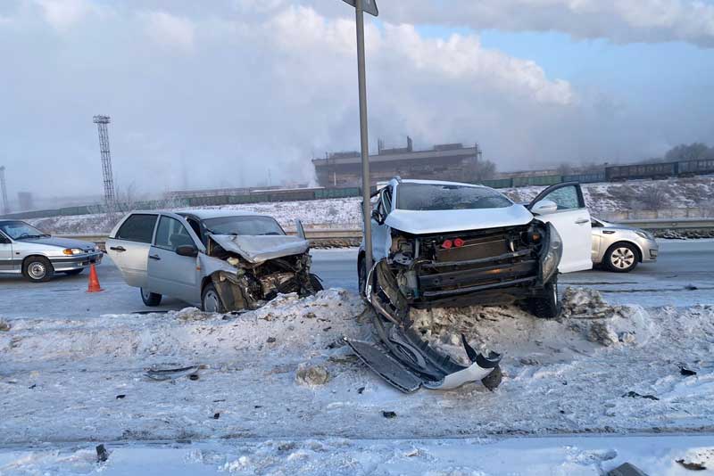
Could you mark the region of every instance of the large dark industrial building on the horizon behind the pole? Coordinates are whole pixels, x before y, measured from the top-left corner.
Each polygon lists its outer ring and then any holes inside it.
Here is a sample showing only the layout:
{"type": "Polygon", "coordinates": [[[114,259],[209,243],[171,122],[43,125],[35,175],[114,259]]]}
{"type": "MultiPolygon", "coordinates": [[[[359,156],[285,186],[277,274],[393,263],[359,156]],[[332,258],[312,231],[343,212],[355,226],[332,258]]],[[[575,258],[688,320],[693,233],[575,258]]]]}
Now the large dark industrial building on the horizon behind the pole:
{"type": "MultiPolygon", "coordinates": [[[[380,140],[377,155],[369,156],[371,184],[393,176],[438,180],[463,180],[465,168],[479,160],[478,144],[438,144],[426,151],[414,151],[411,137],[407,146],[386,149],[380,140]]],[[[361,185],[360,152],[328,153],[324,159],[313,159],[315,175],[323,187],[361,185]]]]}

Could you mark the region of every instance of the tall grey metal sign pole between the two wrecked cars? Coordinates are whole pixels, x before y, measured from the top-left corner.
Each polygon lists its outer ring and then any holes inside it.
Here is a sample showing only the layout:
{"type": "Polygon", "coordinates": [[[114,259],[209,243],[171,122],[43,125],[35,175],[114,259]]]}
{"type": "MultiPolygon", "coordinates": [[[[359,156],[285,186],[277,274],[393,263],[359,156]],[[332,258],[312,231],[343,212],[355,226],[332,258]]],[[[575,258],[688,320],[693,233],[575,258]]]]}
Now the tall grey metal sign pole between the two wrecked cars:
{"type": "Polygon", "coordinates": [[[367,135],[367,79],[364,68],[364,15],[362,0],[355,2],[357,18],[357,74],[360,85],[360,138],[362,155],[362,216],[364,218],[364,253],[366,272],[372,269],[372,213],[369,205],[369,138],[367,135]]]}

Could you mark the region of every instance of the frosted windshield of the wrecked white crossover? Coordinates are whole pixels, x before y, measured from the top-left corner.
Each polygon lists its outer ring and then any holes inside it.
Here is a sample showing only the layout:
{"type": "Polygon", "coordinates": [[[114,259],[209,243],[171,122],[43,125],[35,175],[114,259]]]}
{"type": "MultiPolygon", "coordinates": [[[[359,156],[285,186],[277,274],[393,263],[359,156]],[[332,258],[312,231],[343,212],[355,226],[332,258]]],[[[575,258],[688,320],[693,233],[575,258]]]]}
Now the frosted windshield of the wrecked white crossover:
{"type": "Polygon", "coordinates": [[[445,184],[401,184],[397,188],[397,209],[502,209],[512,201],[487,187],[445,184]]]}

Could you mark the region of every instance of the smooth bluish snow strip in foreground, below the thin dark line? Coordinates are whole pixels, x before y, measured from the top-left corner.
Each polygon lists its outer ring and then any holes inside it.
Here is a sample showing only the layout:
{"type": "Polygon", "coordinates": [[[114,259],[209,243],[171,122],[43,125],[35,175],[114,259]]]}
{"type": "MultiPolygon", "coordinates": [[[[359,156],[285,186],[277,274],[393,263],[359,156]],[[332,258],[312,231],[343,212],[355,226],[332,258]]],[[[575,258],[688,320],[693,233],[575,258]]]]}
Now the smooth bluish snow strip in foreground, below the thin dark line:
{"type": "MultiPolygon", "coordinates": [[[[714,439],[702,436],[527,439],[268,439],[194,444],[112,444],[0,450],[3,474],[317,474],[601,476],[635,464],[652,476],[689,476],[683,464],[714,467],[714,439]],[[681,463],[677,463],[677,462],[681,463]]],[[[701,472],[707,474],[708,472],[701,472]]],[[[694,474],[697,474],[696,472],[694,474]]]]}

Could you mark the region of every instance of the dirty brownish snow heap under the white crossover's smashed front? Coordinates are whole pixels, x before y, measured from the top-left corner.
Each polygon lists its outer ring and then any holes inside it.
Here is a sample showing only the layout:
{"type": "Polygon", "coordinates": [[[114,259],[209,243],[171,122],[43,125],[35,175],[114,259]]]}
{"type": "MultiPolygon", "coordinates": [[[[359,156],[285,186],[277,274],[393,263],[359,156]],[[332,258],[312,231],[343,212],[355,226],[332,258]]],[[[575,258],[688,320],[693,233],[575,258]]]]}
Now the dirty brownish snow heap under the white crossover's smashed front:
{"type": "Polygon", "coordinates": [[[544,363],[601,346],[642,345],[654,332],[643,308],[610,306],[593,289],[567,288],[562,307],[558,320],[538,319],[518,306],[411,309],[411,318],[427,341],[461,364],[469,364],[461,335],[485,353],[505,349],[507,360],[532,362],[542,346],[560,349],[537,359],[544,363]]]}

